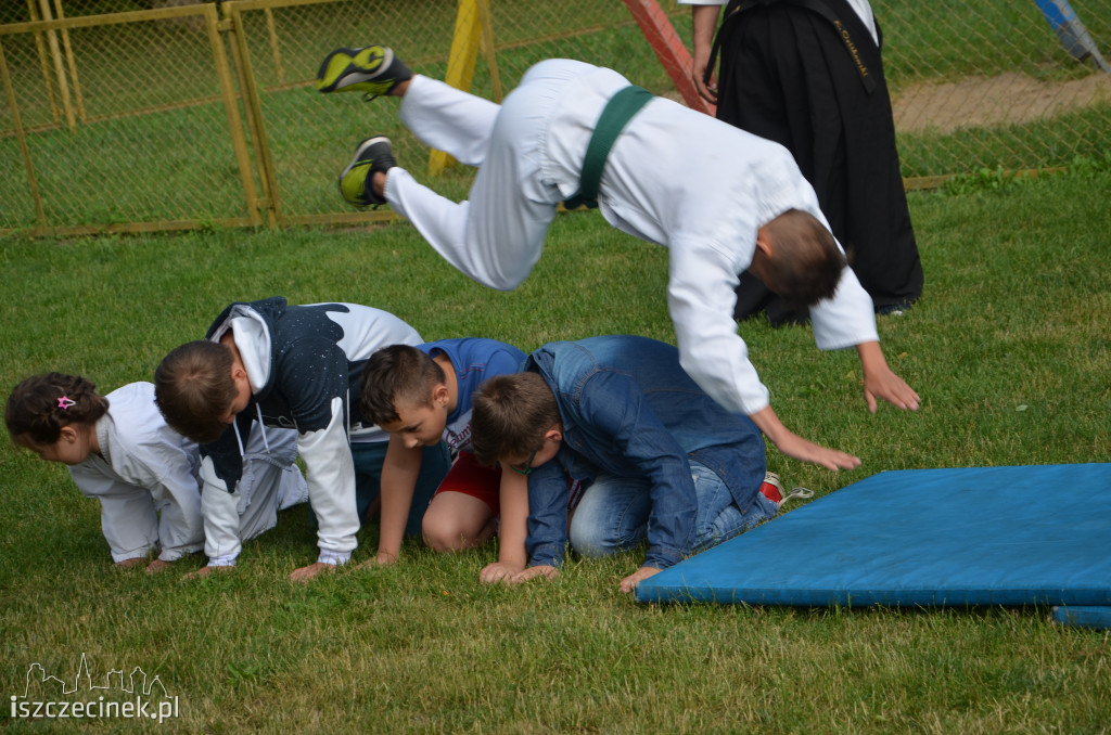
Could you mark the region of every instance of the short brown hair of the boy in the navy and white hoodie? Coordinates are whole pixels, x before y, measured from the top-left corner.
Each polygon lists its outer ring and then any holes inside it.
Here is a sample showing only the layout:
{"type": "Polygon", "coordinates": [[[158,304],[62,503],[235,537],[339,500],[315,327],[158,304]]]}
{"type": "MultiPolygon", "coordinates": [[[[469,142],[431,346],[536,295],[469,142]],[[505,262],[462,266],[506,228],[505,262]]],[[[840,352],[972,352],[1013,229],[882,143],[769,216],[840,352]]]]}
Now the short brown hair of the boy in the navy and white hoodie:
{"type": "Polygon", "coordinates": [[[199,444],[220,439],[223,416],[236,399],[231,350],[219,342],[188,342],[154,371],[154,402],[179,434],[199,444]]]}

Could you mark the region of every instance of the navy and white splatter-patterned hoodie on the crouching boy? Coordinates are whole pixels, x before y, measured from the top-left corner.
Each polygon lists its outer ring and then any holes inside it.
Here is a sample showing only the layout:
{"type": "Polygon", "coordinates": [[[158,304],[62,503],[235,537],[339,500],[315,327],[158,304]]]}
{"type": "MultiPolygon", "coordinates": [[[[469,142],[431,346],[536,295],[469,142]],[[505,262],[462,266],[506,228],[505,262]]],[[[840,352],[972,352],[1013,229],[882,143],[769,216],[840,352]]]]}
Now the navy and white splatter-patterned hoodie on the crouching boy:
{"type": "MultiPolygon", "coordinates": [[[[359,410],[359,379],[366,361],[391,344],[420,344],[417,330],[384,311],[348,303],[290,306],[281,296],[228,306],[206,339],[231,330],[251,384],[251,401],[236,423],[201,447],[204,492],[231,494],[242,476],[242,441],[251,423],[294,429],[304,461],[309,502],[319,521],[318,561],[344,564],[354,550],[354,464],[349,442],[386,441],[359,410]]],[[[230,513],[208,510],[206,533],[236,523],[230,513]],[[220,517],[214,517],[220,516],[220,517]]],[[[217,504],[221,507],[227,503],[217,504]]],[[[229,528],[230,530],[230,528],[229,528]]]]}

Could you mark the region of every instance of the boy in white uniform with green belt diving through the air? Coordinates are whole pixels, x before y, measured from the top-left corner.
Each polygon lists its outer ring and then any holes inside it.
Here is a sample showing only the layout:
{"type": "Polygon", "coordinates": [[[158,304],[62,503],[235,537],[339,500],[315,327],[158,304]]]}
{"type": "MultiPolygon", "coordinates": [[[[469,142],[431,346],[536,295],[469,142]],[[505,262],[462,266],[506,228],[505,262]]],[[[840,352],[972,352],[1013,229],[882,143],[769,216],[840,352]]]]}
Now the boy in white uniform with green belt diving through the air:
{"type": "Polygon", "coordinates": [[[871,299],[782,145],[670,100],[645,100],[618,72],[565,59],[532,67],[500,107],[412,74],[382,46],[333,51],[317,87],[400,97],[401,120],[422,142],[479,168],[469,201],[451,202],[397,167],[387,139],[371,138],[340,190],[352,203],[389,203],[480,283],[520,284],[568,200],[597,202],[615,228],[669,248],[668,305],[683,369],[783,454],[831,470],[860,464],[794,434],[772,410],[732,316],[744,270],[810,308],[820,349],[857,348],[870,411],[877,397],[918,409],[918,394],[880,349],[871,299]]]}

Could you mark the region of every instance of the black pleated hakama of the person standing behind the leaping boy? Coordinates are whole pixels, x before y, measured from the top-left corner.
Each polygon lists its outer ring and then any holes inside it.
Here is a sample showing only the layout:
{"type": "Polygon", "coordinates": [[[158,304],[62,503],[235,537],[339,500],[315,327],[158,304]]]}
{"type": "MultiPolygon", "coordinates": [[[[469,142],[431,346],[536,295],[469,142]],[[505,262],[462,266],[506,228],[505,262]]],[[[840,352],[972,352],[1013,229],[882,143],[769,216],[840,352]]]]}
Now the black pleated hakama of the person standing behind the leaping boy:
{"type": "MultiPolygon", "coordinates": [[[[791,151],[878,311],[915,301],[922,264],[891,99],[860,17],[844,0],[758,2],[724,22],[720,43],[718,118],[791,151]]],[[[741,275],[738,319],[790,320],[778,302],[741,275]]]]}

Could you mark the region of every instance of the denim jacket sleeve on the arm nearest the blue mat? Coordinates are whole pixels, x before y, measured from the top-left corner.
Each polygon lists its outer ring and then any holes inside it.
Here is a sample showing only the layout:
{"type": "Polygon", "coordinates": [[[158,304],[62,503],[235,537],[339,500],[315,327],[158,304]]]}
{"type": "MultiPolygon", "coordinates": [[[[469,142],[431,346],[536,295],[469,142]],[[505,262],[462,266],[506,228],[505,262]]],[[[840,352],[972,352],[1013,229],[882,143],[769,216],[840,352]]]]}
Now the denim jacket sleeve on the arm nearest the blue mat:
{"type": "MultiPolygon", "coordinates": [[[[644,566],[667,568],[690,554],[698,497],[687,452],[644,399],[637,381],[624,373],[600,371],[582,385],[579,409],[593,432],[617,455],[618,466],[647,477],[652,485],[644,566]]],[[[600,457],[601,459],[601,457],[600,457]]]]}

